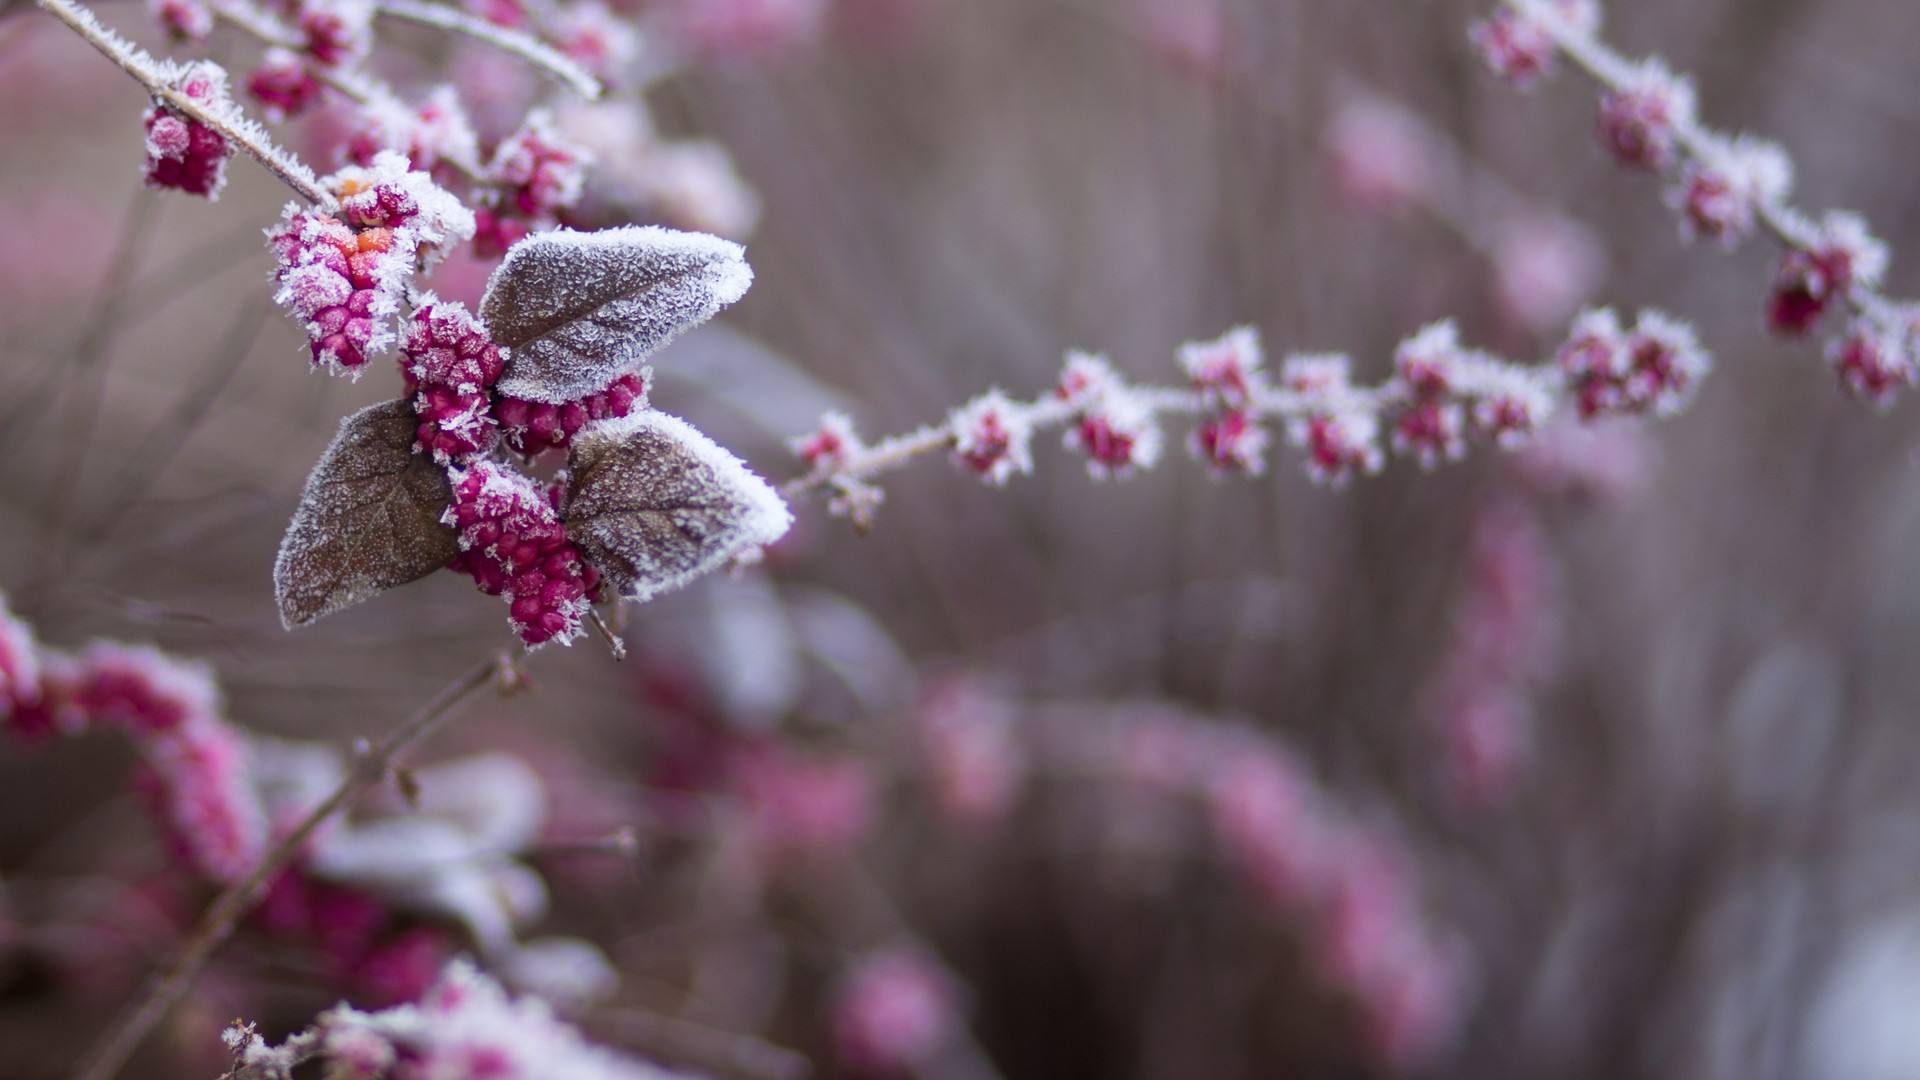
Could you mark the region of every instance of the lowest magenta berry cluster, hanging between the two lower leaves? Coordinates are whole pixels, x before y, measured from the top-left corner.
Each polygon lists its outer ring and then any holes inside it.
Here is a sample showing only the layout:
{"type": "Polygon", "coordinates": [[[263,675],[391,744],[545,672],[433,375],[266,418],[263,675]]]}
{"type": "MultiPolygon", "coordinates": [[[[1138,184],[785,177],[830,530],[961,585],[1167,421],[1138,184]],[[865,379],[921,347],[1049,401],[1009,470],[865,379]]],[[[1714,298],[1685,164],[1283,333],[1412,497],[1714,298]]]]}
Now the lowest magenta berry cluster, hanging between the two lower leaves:
{"type": "Polygon", "coordinates": [[[576,638],[599,592],[599,571],[566,538],[555,496],[484,459],[451,469],[447,479],[453,503],[445,523],[461,542],[453,569],[488,596],[507,598],[507,619],[528,646],[576,638]]]}

